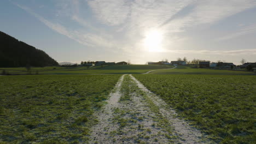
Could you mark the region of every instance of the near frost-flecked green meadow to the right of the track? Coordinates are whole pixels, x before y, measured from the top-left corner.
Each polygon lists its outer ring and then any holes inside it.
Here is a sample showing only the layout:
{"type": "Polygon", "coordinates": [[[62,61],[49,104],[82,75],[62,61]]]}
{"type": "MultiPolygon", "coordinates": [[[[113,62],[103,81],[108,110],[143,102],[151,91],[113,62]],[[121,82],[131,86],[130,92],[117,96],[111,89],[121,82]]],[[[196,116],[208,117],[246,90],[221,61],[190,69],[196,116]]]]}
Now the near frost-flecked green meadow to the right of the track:
{"type": "Polygon", "coordinates": [[[134,76],[217,143],[256,141],[255,76],[134,76]]]}

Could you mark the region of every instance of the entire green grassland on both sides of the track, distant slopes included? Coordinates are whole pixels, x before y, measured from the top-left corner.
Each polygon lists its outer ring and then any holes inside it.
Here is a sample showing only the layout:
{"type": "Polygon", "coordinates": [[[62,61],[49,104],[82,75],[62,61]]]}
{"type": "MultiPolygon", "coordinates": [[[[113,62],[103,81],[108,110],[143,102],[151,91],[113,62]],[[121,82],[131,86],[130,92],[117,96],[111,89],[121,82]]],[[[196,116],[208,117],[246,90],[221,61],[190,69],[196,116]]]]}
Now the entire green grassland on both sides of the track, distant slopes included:
{"type": "MultiPolygon", "coordinates": [[[[96,123],[92,114],[106,103],[118,74],[134,74],[180,118],[217,143],[256,141],[255,73],[184,66],[163,70],[168,68],[173,67],[45,67],[32,68],[32,74],[39,75],[0,76],[0,143],[87,142],[96,123]],[[150,70],[156,71],[141,75],[150,70]]],[[[27,73],[25,68],[4,69],[27,73]]],[[[135,92],[132,87],[126,90],[135,92]]]]}

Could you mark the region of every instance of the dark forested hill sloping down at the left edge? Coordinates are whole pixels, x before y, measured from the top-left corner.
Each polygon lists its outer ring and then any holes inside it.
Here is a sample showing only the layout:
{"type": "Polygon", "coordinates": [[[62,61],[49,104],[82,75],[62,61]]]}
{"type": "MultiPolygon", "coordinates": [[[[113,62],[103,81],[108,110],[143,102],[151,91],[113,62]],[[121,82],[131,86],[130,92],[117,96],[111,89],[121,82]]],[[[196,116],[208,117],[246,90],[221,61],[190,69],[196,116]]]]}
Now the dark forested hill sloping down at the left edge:
{"type": "Polygon", "coordinates": [[[0,31],[0,67],[45,67],[59,65],[42,50],[0,31]]]}

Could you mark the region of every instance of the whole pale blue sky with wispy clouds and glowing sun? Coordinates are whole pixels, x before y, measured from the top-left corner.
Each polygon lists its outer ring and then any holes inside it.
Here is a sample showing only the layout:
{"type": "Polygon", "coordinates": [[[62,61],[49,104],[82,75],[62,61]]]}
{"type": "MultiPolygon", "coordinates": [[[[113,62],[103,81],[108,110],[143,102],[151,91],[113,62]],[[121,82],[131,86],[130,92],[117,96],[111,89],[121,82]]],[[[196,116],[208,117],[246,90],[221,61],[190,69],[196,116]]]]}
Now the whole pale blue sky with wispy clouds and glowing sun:
{"type": "Polygon", "coordinates": [[[256,62],[256,0],[2,0],[0,31],[57,62],[256,62]]]}

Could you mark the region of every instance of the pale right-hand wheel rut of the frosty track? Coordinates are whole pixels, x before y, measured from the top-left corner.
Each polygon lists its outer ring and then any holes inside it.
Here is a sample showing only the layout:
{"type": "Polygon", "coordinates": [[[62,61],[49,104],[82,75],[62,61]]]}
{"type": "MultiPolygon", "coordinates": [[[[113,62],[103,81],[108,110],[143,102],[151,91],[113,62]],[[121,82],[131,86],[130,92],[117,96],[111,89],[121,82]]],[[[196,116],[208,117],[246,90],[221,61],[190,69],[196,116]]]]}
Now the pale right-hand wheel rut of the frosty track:
{"type": "Polygon", "coordinates": [[[205,135],[201,134],[201,131],[191,127],[187,122],[177,118],[176,112],[169,107],[164,100],[160,99],[154,93],[150,92],[141,82],[135,77],[130,75],[132,80],[137,83],[137,86],[147,94],[148,101],[152,101],[154,105],[159,108],[162,116],[168,119],[168,121],[174,127],[176,134],[180,137],[178,143],[214,143],[206,139],[205,135]]]}

